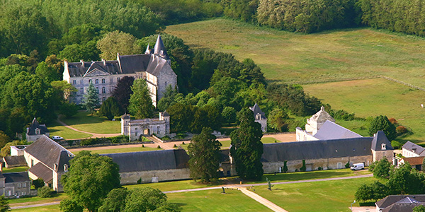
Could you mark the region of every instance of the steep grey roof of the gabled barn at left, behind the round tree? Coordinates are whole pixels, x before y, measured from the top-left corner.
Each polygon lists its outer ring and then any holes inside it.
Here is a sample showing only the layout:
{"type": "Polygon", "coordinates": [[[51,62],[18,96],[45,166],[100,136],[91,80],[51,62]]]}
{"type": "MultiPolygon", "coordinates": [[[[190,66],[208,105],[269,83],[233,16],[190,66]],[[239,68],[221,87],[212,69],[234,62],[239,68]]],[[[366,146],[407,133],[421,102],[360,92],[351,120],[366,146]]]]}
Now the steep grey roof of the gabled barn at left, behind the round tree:
{"type": "Polygon", "coordinates": [[[74,156],[74,154],[67,151],[66,148],[60,146],[59,143],[56,143],[47,136],[41,136],[40,139],[37,139],[37,141],[30,146],[27,146],[24,151],[33,155],[34,158],[37,158],[37,160],[40,160],[40,162],[44,163],[52,170],[54,170],[54,164],[58,162],[58,158],[60,158],[62,151],[67,152],[67,155],[71,155],[71,157],[74,156]]]}

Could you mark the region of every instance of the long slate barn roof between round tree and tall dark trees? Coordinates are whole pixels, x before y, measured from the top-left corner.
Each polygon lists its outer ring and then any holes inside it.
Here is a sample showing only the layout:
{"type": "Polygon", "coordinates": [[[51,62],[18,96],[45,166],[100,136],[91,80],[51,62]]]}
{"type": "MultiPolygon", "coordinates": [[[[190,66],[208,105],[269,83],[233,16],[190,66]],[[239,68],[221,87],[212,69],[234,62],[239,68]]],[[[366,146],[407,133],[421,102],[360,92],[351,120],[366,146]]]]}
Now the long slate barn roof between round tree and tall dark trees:
{"type": "Polygon", "coordinates": [[[143,151],[134,153],[103,154],[112,158],[120,166],[120,172],[140,172],[150,170],[174,170],[188,167],[186,151],[143,151]]]}

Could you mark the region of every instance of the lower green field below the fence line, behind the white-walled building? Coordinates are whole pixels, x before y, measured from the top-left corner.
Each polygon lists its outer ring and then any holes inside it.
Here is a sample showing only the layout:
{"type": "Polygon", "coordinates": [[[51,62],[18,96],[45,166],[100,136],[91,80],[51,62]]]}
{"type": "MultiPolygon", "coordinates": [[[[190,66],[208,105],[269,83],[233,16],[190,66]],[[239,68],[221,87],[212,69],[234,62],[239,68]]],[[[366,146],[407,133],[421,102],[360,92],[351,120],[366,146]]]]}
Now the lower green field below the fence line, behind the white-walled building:
{"type": "MultiPolygon", "coordinates": [[[[384,79],[310,84],[303,87],[307,93],[319,97],[322,102],[329,103],[335,109],[355,112],[358,117],[383,114],[388,118],[397,119],[399,124],[414,132],[397,140],[425,142],[425,109],[421,107],[421,104],[425,103],[424,91],[384,79]]],[[[344,122],[339,124],[348,129],[355,127],[344,122]]],[[[358,123],[359,125],[361,126],[361,123],[358,123]]],[[[367,129],[363,131],[367,134],[367,129]]]]}

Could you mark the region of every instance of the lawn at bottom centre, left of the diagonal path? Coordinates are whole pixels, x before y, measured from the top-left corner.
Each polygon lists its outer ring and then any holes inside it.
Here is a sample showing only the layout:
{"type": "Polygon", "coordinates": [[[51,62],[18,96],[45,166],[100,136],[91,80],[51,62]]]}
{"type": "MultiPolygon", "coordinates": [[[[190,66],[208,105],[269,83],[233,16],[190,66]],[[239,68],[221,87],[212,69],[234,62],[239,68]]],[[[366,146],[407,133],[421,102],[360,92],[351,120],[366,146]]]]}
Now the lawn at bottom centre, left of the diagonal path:
{"type": "Polygon", "coordinates": [[[182,211],[271,211],[237,190],[221,189],[201,192],[166,194],[168,201],[181,206],[182,211]]]}

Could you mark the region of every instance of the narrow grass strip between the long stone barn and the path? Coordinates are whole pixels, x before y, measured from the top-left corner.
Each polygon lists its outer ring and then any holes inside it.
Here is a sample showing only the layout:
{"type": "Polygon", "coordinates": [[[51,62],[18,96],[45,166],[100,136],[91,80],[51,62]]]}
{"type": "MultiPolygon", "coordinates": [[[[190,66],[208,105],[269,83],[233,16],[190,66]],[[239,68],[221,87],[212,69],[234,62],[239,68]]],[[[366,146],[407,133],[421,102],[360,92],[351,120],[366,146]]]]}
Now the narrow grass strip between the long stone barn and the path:
{"type": "MultiPolygon", "coordinates": [[[[303,180],[303,179],[324,179],[324,178],[331,178],[331,177],[348,177],[348,176],[367,175],[367,174],[370,174],[368,170],[353,172],[350,169],[322,170],[322,171],[314,171],[314,172],[290,172],[290,173],[278,173],[276,175],[273,175],[273,174],[263,175],[262,181],[244,182],[244,184],[263,183],[263,182],[266,182],[266,177],[271,182],[288,182],[288,181],[303,180]]],[[[232,180],[233,178],[234,177],[229,177],[228,179],[232,180]]],[[[217,187],[223,183],[224,183],[223,181],[219,181],[212,184],[199,184],[197,182],[194,182],[192,179],[189,179],[189,180],[180,180],[180,181],[174,181],[174,182],[133,184],[133,185],[127,185],[125,187],[129,189],[137,188],[137,187],[152,187],[155,189],[159,189],[162,192],[167,192],[167,191],[175,191],[175,190],[182,190],[182,189],[217,187]]]]}

